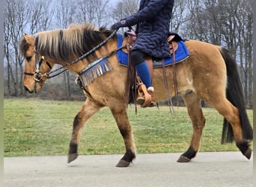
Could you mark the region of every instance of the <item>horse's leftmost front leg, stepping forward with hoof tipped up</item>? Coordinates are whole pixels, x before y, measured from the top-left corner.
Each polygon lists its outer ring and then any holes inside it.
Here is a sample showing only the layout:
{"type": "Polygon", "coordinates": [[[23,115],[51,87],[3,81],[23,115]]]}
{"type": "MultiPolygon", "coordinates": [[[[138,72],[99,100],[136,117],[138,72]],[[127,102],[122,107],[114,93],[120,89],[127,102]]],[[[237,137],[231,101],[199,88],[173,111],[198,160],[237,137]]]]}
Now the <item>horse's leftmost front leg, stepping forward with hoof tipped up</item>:
{"type": "Polygon", "coordinates": [[[79,138],[85,125],[85,121],[88,120],[93,114],[102,108],[102,105],[98,105],[96,102],[92,101],[91,99],[87,98],[85,100],[84,105],[80,109],[79,113],[76,114],[75,119],[73,120],[73,132],[71,135],[70,140],[70,150],[68,152],[68,159],[67,163],[72,162],[78,157],[78,144],[79,138]]]}

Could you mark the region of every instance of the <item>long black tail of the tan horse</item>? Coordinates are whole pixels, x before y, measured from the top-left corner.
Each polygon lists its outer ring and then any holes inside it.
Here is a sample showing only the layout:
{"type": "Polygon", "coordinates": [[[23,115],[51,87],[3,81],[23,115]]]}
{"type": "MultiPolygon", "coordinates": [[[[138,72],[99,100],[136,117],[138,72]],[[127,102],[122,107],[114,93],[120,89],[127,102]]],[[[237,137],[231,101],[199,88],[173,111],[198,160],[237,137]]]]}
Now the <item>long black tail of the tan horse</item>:
{"type": "MultiPolygon", "coordinates": [[[[237,70],[237,63],[232,58],[227,49],[221,48],[220,52],[222,58],[225,60],[227,68],[228,84],[226,88],[227,99],[238,108],[240,112],[240,123],[243,131],[243,139],[251,141],[253,132],[250,125],[249,118],[246,113],[246,102],[243,95],[243,88],[240,80],[240,76],[237,70]]],[[[222,144],[230,143],[234,141],[234,135],[231,128],[231,124],[224,118],[222,129],[222,144]]]]}

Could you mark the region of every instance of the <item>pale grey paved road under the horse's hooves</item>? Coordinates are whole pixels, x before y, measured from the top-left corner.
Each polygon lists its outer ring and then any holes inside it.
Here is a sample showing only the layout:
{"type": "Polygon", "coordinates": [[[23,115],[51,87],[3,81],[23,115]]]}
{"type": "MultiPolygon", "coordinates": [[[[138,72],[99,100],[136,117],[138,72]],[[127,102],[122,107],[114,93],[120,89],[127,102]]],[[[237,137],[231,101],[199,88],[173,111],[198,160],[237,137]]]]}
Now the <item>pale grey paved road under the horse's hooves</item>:
{"type": "Polygon", "coordinates": [[[4,158],[4,187],[80,186],[243,186],[252,185],[253,160],[240,152],[198,153],[177,163],[180,153],[138,154],[128,168],[116,168],[121,155],[4,158]]]}

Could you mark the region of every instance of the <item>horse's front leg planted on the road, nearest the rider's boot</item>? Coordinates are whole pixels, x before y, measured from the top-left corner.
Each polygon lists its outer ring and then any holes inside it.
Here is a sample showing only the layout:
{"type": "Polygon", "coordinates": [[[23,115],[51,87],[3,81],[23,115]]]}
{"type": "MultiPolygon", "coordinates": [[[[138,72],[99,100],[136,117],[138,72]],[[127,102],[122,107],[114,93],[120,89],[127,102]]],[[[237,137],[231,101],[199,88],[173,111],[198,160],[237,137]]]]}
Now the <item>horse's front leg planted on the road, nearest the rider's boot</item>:
{"type": "Polygon", "coordinates": [[[132,160],[135,159],[136,148],[132,135],[132,127],[129,124],[129,119],[127,116],[127,105],[125,102],[121,104],[115,102],[114,105],[109,106],[109,108],[115,117],[115,121],[118,124],[118,128],[124,138],[124,144],[126,147],[126,153],[116,166],[128,167],[132,160]]]}

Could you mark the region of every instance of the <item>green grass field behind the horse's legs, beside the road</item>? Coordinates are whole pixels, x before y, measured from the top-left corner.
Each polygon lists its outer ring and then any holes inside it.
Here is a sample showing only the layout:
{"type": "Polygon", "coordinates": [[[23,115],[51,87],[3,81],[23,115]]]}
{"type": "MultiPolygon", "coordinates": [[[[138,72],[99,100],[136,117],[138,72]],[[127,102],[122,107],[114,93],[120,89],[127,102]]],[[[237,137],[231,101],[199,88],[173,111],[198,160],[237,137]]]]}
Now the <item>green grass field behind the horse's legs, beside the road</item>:
{"type": "MultiPolygon", "coordinates": [[[[4,156],[67,155],[73,118],[83,102],[40,99],[4,99],[4,156]]],[[[222,116],[204,108],[207,119],[201,151],[238,150],[234,144],[220,144],[222,116]]],[[[186,108],[168,106],[139,108],[128,115],[138,153],[184,152],[189,147],[192,124],[186,108]]],[[[252,122],[252,110],[248,110],[252,122]]],[[[124,153],[124,141],[109,108],[91,117],[82,132],[79,154],[124,153]]]]}

